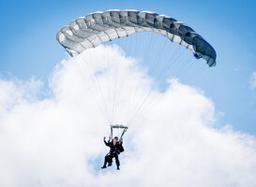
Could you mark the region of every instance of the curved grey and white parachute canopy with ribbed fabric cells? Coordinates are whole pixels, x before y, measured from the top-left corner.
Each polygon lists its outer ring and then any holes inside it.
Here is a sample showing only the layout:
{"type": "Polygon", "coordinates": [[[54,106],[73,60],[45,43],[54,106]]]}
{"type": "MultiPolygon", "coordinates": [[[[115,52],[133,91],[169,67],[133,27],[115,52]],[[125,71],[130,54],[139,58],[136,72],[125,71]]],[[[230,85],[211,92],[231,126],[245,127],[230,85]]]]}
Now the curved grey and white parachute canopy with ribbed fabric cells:
{"type": "Polygon", "coordinates": [[[209,66],[216,65],[216,51],[203,36],[183,22],[149,11],[113,9],[94,12],[64,26],[56,38],[72,56],[137,32],[155,32],[166,36],[172,42],[192,50],[209,66]]]}

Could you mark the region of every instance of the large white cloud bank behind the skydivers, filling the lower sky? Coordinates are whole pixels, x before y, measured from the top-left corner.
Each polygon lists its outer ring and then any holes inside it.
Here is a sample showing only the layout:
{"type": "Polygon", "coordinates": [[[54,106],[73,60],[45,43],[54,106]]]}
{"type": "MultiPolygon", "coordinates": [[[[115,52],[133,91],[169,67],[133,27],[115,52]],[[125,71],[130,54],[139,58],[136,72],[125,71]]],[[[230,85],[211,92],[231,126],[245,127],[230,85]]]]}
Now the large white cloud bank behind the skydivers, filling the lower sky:
{"type": "Polygon", "coordinates": [[[1,80],[0,186],[255,186],[255,137],[216,129],[214,103],[201,91],[171,79],[159,94],[144,72],[120,49],[99,47],[61,62],[51,79],[51,97],[35,99],[39,86],[26,85],[39,81],[17,86],[1,80]],[[117,87],[116,122],[126,117],[124,98],[151,91],[150,103],[161,95],[129,127],[120,171],[114,165],[100,169],[109,124],[95,89],[100,85],[112,106],[114,77],[107,67],[116,70],[116,62],[122,62],[117,85],[123,85],[117,87]],[[98,79],[88,73],[96,68],[98,79]]]}

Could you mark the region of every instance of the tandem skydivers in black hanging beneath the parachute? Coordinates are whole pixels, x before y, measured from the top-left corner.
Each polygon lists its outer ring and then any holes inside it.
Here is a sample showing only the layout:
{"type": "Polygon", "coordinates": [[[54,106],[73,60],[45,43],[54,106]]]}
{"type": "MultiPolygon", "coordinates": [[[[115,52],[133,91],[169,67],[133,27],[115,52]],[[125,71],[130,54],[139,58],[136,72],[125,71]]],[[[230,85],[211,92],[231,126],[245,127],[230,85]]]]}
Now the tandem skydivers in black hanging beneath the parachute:
{"type": "Polygon", "coordinates": [[[103,138],[104,143],[106,144],[106,146],[110,147],[110,152],[107,153],[107,155],[105,156],[105,160],[104,160],[104,165],[101,167],[103,168],[107,168],[107,163],[108,166],[111,166],[113,163],[113,158],[115,159],[115,164],[117,166],[117,170],[120,169],[120,161],[118,158],[118,154],[120,154],[120,152],[124,151],[123,148],[123,142],[120,139],[118,141],[118,137],[114,137],[111,141],[112,137],[109,137],[109,141],[106,141],[106,137],[103,138]]]}

